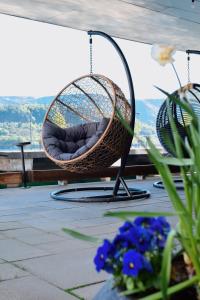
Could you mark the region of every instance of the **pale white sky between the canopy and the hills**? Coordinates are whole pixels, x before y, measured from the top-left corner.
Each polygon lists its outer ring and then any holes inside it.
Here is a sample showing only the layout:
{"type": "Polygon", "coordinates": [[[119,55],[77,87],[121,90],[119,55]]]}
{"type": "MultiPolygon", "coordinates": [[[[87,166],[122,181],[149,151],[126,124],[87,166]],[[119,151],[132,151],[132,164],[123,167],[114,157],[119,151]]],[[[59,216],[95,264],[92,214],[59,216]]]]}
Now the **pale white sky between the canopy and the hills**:
{"type": "MultiPolygon", "coordinates": [[[[89,37],[84,31],[0,14],[0,32],[0,96],[53,96],[90,71],[89,37]]],[[[137,99],[163,98],[155,86],[168,92],[179,88],[172,67],[162,67],[151,58],[151,45],[115,40],[128,61],[137,99]]],[[[94,73],[108,76],[128,97],[126,74],[113,46],[95,36],[93,53],[94,73]]],[[[174,58],[181,83],[185,84],[186,54],[177,51],[174,58]]],[[[193,82],[200,81],[199,69],[200,56],[193,55],[193,82]]]]}

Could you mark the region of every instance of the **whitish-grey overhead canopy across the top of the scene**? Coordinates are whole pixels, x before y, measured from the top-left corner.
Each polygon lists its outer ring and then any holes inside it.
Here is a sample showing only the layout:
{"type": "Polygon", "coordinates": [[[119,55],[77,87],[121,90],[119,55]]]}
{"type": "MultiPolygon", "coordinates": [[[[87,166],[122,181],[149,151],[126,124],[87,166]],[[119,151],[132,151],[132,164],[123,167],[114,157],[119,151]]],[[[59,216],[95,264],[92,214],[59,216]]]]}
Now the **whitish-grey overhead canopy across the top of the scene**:
{"type": "Polygon", "coordinates": [[[0,13],[200,50],[199,0],[0,0],[0,13]]]}

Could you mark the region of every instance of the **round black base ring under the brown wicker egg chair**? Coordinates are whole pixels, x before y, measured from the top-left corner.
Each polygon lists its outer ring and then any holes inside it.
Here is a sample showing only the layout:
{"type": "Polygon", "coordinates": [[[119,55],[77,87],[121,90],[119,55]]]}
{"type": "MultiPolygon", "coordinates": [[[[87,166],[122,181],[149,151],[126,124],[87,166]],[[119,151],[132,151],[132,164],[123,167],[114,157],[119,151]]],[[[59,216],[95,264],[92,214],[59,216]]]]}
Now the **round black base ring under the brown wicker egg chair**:
{"type": "Polygon", "coordinates": [[[123,188],[119,189],[118,195],[114,196],[113,194],[102,194],[102,195],[92,195],[86,197],[69,197],[66,194],[74,193],[74,192],[91,192],[91,191],[113,191],[113,187],[85,187],[85,188],[75,188],[75,189],[65,189],[59,190],[51,193],[51,197],[55,200],[61,201],[69,201],[69,202],[115,202],[115,201],[128,201],[128,200],[137,200],[137,199],[145,199],[150,196],[150,192],[147,190],[140,189],[129,189],[130,196],[127,195],[123,188]]]}

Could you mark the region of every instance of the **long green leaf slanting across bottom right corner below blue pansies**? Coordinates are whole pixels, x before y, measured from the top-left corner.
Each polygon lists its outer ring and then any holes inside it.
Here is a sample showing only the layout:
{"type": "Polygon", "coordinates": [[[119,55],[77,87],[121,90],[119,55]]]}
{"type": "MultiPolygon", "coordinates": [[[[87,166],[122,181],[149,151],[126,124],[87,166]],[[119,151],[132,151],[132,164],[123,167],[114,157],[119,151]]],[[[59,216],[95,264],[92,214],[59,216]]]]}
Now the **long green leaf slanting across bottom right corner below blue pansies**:
{"type": "MultiPolygon", "coordinates": [[[[200,281],[200,277],[196,275],[196,276],[193,276],[192,278],[190,278],[188,280],[185,280],[181,283],[173,285],[172,287],[168,288],[167,295],[172,295],[176,292],[184,290],[184,289],[188,288],[189,286],[195,284],[198,281],[200,281]]],[[[162,292],[157,292],[157,293],[151,294],[149,296],[140,298],[140,300],[160,300],[160,299],[163,299],[162,292]]]]}

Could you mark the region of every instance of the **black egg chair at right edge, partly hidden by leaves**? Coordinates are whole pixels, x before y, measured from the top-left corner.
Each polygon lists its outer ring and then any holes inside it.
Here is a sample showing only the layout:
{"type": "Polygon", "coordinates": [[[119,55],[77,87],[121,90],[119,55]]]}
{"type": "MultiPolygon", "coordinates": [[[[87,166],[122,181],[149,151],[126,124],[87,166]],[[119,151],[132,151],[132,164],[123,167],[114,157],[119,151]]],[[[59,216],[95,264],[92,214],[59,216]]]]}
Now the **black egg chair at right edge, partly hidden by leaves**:
{"type": "MultiPolygon", "coordinates": [[[[180,101],[187,101],[191,108],[194,110],[196,116],[200,117],[200,84],[190,83],[190,54],[200,55],[199,50],[186,50],[187,53],[187,71],[188,71],[188,84],[181,87],[179,90],[175,91],[172,96],[179,98],[180,101]],[[184,94],[183,99],[180,98],[180,95],[184,94]]],[[[179,81],[180,83],[180,81],[179,81]]],[[[177,131],[181,137],[183,155],[188,157],[187,150],[184,146],[184,141],[187,140],[190,142],[190,137],[188,135],[188,126],[191,123],[190,115],[180,107],[180,105],[174,103],[171,99],[167,99],[163,102],[162,106],[157,115],[156,119],[156,131],[158,139],[171,156],[175,156],[174,153],[174,138],[172,134],[172,129],[170,125],[170,119],[168,115],[168,109],[171,112],[171,116],[176,125],[177,131]],[[169,106],[168,106],[169,105],[169,106]],[[172,146],[170,146],[172,145],[172,146]]],[[[183,181],[182,179],[174,179],[177,190],[183,190],[183,181]]],[[[164,188],[162,181],[157,181],[154,183],[154,187],[164,188]]]]}

